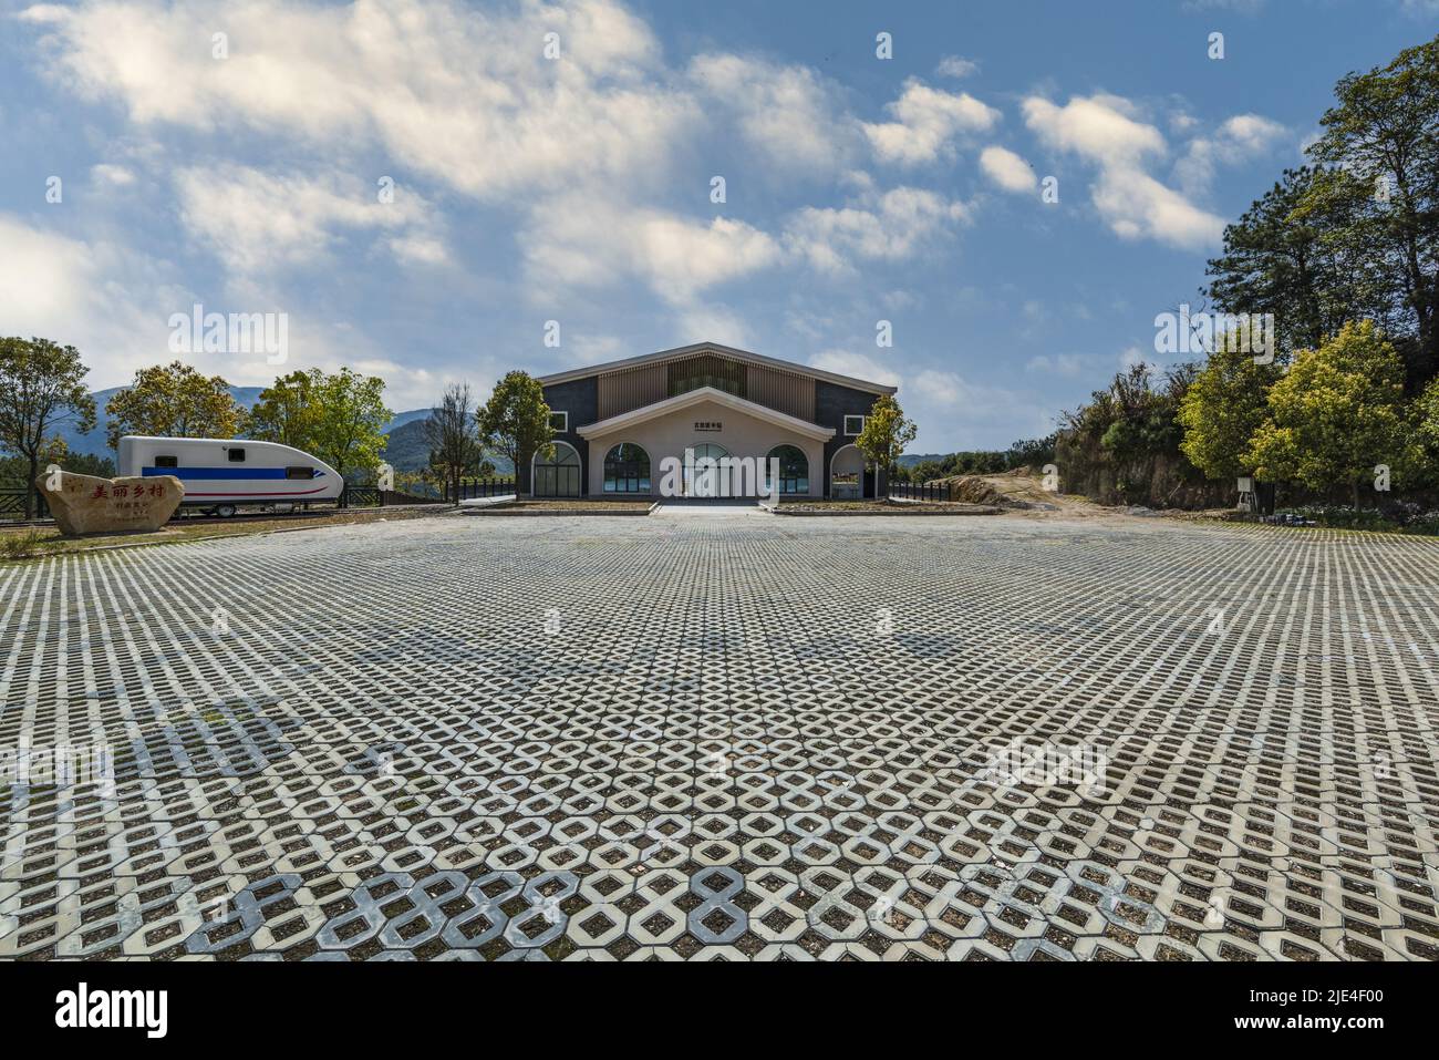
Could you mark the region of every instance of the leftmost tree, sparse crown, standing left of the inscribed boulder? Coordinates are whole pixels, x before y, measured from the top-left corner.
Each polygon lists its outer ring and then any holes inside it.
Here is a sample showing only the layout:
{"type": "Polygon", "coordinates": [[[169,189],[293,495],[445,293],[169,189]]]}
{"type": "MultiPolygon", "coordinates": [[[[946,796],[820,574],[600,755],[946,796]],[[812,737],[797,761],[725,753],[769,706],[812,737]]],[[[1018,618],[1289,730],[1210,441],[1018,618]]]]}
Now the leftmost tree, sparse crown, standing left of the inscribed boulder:
{"type": "Polygon", "coordinates": [[[35,480],[45,461],[65,455],[62,423],[95,426],[95,399],[79,350],[49,338],[0,338],[0,448],[26,465],[24,517],[35,516],[35,480]]]}

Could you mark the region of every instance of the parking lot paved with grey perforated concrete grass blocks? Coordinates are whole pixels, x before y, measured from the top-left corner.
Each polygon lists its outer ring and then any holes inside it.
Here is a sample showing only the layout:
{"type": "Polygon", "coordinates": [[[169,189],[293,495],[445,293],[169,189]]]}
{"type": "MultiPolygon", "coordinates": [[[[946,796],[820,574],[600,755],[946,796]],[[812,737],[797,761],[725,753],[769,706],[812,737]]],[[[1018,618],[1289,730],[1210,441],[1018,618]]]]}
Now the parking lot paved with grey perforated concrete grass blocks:
{"type": "Polygon", "coordinates": [[[1436,585],[1019,517],[0,566],[0,956],[1435,959],[1436,585]]]}

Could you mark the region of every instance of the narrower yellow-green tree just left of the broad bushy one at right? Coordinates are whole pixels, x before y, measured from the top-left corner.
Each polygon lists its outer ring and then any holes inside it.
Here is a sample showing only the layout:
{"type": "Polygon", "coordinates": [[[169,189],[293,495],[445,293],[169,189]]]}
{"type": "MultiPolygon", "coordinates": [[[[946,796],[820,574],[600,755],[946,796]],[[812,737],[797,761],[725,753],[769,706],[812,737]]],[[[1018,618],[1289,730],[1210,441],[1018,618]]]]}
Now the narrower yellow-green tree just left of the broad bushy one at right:
{"type": "Polygon", "coordinates": [[[1278,361],[1256,364],[1242,346],[1233,334],[1222,340],[1179,403],[1180,451],[1209,478],[1253,471],[1249,442],[1269,416],[1269,387],[1282,374],[1278,361]]]}

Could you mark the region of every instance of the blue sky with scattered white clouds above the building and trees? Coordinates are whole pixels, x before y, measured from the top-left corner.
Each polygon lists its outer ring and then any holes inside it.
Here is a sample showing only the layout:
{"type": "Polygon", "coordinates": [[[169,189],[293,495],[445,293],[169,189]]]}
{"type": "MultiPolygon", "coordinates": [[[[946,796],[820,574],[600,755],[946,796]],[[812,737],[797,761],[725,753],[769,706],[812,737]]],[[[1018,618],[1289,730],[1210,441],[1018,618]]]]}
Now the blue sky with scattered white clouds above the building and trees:
{"type": "Polygon", "coordinates": [[[0,12],[0,331],[96,389],[194,304],[286,314],[281,370],[378,373],[396,409],[714,340],[898,383],[917,452],[1046,434],[1156,361],[1334,81],[1439,32],[1436,0],[0,12]]]}

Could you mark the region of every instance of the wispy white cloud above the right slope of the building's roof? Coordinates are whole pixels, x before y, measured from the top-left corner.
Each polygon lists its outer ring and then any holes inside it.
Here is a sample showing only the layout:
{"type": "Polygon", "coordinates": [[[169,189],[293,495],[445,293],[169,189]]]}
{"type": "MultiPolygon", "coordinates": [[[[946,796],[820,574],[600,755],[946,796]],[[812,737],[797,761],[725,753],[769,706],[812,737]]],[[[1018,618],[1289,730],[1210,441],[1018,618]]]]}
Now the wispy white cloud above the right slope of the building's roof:
{"type": "Polygon", "coordinates": [[[822,272],[848,272],[852,259],[899,261],[966,220],[963,203],[918,187],[866,192],[842,209],[806,207],[786,226],[786,246],[822,272]]]}

